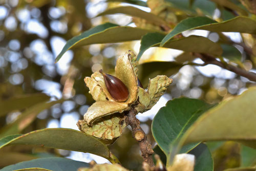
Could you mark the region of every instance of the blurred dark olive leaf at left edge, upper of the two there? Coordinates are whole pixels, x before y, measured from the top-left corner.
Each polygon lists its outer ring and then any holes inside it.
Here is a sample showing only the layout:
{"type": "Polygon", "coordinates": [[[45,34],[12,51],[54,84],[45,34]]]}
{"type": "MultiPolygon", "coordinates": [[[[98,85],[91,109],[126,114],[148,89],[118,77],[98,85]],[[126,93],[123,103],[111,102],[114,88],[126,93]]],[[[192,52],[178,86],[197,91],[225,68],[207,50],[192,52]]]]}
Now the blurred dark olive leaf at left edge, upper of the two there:
{"type": "Polygon", "coordinates": [[[26,94],[22,96],[12,97],[7,100],[0,100],[0,116],[4,116],[8,112],[12,112],[14,110],[22,110],[29,108],[30,106],[49,100],[50,97],[43,93],[35,93],[35,94],[26,94]]]}

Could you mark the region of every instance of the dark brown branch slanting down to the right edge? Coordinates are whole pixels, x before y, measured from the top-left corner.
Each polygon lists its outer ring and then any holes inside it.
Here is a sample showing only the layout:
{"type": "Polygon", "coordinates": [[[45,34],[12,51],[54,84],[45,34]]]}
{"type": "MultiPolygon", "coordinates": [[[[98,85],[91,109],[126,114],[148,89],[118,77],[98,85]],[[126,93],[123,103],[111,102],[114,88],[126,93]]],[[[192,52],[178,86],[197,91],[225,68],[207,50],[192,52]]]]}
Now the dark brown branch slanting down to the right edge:
{"type": "Polygon", "coordinates": [[[215,57],[210,56],[208,54],[195,53],[195,55],[198,56],[200,59],[202,59],[205,62],[205,64],[213,64],[213,65],[219,66],[221,68],[224,68],[226,70],[234,72],[234,73],[236,73],[240,76],[248,78],[251,81],[256,82],[256,73],[249,72],[249,71],[243,70],[243,69],[238,68],[238,67],[234,67],[234,66],[229,65],[229,64],[225,65],[221,61],[216,60],[215,57]]]}

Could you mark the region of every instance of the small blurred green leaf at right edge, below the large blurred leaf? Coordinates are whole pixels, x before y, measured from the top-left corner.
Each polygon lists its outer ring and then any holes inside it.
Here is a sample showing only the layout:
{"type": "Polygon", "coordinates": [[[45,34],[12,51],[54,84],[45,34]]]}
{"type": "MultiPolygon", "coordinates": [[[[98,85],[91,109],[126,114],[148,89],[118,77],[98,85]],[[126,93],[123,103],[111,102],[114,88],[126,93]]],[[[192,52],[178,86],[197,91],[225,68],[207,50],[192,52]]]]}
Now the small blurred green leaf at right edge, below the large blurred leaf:
{"type": "Polygon", "coordinates": [[[241,145],[241,167],[253,166],[256,164],[256,149],[241,145]]]}

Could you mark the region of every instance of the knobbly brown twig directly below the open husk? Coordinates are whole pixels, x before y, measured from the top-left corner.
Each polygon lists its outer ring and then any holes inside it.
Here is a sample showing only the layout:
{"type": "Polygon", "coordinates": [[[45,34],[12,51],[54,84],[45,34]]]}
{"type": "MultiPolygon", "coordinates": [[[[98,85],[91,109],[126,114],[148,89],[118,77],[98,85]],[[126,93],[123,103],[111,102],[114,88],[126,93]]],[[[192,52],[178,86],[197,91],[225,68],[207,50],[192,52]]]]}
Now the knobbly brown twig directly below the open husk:
{"type": "Polygon", "coordinates": [[[136,118],[138,112],[132,108],[128,113],[128,123],[132,127],[133,138],[139,142],[141,156],[150,166],[154,166],[152,154],[154,153],[151,144],[147,141],[146,134],[140,127],[140,121],[136,118]]]}

